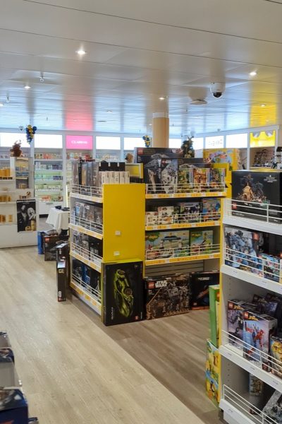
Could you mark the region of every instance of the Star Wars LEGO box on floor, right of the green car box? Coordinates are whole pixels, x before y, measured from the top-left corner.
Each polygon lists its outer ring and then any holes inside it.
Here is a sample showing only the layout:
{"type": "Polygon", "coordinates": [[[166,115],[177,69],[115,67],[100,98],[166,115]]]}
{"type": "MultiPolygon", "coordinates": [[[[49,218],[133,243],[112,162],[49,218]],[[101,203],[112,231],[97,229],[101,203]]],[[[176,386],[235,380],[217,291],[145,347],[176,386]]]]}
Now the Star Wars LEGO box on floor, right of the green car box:
{"type": "Polygon", "coordinates": [[[185,314],[190,309],[189,278],[183,274],[145,279],[146,319],[185,314]]]}

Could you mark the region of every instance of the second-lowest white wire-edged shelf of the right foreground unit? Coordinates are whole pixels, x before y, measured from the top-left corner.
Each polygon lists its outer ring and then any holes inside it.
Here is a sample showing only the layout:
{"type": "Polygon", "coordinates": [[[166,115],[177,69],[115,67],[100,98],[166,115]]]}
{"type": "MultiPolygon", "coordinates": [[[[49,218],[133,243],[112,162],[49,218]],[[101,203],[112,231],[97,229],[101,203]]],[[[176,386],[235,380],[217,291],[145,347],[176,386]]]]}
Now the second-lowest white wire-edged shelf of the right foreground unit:
{"type": "Polygon", "coordinates": [[[282,363],[271,355],[224,330],[221,330],[219,353],[269,384],[269,386],[282,392],[282,363]]]}

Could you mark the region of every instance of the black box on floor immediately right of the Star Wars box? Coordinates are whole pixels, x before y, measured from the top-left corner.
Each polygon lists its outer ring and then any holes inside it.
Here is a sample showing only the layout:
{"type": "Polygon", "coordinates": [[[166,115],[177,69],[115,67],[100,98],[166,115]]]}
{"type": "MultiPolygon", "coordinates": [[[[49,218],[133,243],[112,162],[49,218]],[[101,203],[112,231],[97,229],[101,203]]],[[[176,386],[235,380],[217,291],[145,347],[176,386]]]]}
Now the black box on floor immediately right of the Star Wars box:
{"type": "Polygon", "coordinates": [[[190,273],[191,309],[209,309],[209,286],[219,284],[219,271],[190,273]]]}

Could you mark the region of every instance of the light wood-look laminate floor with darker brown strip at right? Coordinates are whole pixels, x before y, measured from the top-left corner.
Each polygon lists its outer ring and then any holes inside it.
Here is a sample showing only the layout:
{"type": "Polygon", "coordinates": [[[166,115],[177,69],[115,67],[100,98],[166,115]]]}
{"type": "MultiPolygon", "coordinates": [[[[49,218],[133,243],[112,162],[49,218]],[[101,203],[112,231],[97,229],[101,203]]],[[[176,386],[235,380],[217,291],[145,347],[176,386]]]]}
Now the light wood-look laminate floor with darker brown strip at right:
{"type": "Polygon", "coordinates": [[[207,312],[105,327],[56,301],[54,262],[0,250],[0,329],[40,424],[218,423],[204,394],[207,312]]]}

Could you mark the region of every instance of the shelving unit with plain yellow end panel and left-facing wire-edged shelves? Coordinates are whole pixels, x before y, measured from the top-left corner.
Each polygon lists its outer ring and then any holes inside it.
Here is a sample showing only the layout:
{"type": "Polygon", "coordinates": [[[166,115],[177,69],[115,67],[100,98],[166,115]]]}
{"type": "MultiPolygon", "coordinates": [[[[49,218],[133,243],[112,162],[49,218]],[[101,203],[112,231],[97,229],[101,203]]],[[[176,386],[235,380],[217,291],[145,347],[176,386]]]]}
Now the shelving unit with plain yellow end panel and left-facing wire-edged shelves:
{"type": "MultiPolygon", "coordinates": [[[[102,273],[103,264],[121,261],[145,261],[145,184],[104,184],[93,196],[82,194],[83,187],[71,192],[71,211],[75,202],[97,204],[103,208],[103,223],[90,222],[71,214],[71,257],[102,273]],[[102,240],[103,254],[99,257],[76,245],[73,232],[102,240]]],[[[102,276],[101,276],[102,281],[102,276]]],[[[71,288],[76,295],[98,314],[102,314],[102,294],[88,287],[71,273],[71,288]]]]}

